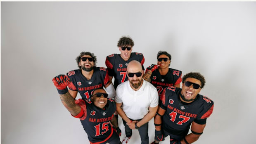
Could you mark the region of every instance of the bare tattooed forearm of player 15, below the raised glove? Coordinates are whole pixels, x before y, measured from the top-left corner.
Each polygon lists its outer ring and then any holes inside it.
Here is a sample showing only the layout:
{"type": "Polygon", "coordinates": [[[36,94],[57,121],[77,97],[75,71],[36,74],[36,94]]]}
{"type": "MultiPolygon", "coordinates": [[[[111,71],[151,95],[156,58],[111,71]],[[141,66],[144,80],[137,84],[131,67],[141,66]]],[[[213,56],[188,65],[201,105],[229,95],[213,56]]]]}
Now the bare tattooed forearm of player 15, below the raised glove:
{"type": "Polygon", "coordinates": [[[80,113],[81,107],[75,103],[75,99],[67,92],[66,94],[59,94],[62,104],[71,113],[72,116],[76,116],[80,113]]]}

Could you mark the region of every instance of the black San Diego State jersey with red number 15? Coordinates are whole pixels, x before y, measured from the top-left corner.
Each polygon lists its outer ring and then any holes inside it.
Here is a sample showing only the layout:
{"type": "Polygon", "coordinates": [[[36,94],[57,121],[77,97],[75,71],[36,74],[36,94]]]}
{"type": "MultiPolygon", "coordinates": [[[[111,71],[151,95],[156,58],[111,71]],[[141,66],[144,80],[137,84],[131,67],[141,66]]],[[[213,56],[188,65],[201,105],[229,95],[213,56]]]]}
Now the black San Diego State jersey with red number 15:
{"type": "Polygon", "coordinates": [[[91,101],[78,99],[75,101],[82,110],[80,121],[91,144],[101,144],[107,141],[113,134],[110,121],[116,111],[116,103],[108,99],[105,109],[100,109],[91,101]]]}

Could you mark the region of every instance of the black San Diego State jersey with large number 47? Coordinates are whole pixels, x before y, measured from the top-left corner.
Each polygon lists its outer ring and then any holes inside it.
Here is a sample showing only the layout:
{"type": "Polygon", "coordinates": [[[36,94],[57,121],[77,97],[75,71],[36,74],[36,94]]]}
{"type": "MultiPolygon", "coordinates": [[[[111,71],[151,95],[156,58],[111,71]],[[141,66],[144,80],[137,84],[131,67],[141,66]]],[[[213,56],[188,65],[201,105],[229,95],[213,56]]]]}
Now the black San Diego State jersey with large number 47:
{"type": "Polygon", "coordinates": [[[159,106],[166,110],[162,117],[162,128],[172,135],[185,136],[194,121],[205,124],[213,112],[213,101],[201,94],[190,103],[180,101],[182,89],[177,87],[166,87],[161,94],[159,106]]]}

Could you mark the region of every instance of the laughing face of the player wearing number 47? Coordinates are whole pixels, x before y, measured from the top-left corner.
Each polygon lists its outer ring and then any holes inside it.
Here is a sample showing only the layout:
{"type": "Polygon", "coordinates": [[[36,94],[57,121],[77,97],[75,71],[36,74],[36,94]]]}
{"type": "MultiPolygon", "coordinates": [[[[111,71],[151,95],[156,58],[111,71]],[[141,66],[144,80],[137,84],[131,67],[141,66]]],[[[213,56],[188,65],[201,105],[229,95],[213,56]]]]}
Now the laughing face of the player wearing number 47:
{"type": "Polygon", "coordinates": [[[186,81],[200,85],[198,89],[194,89],[193,84],[189,87],[187,87],[184,83],[182,84],[181,94],[183,96],[180,96],[180,100],[183,102],[190,103],[194,101],[194,99],[197,97],[197,94],[201,91],[201,82],[200,80],[197,80],[195,78],[186,78],[185,82],[186,81]]]}

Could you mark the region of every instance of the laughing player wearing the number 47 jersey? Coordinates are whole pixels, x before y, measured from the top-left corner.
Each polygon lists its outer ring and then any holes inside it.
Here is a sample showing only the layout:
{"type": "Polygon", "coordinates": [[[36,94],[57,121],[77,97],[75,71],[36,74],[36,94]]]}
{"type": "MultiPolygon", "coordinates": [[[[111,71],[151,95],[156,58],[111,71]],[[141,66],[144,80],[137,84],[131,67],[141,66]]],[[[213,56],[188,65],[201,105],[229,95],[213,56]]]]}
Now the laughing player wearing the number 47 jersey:
{"type": "Polygon", "coordinates": [[[183,76],[182,89],[164,89],[154,117],[156,130],[152,144],[163,141],[167,135],[170,135],[171,144],[191,144],[199,139],[206,118],[213,111],[213,101],[199,94],[204,85],[204,76],[191,72],[183,76]],[[191,124],[192,133],[187,135],[191,124]]]}

